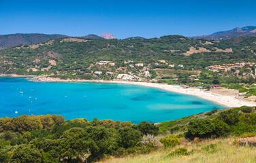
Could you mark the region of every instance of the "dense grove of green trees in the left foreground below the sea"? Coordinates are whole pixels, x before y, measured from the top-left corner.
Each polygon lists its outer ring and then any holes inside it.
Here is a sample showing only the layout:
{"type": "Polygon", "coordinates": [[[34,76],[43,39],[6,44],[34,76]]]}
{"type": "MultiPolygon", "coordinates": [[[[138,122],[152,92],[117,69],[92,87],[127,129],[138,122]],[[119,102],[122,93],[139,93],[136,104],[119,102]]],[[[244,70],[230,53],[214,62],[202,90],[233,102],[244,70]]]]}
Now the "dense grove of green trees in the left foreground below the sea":
{"type": "Polygon", "coordinates": [[[0,162],[94,162],[159,147],[139,143],[144,135],[159,133],[148,122],[135,125],[97,118],[89,122],[65,121],[61,115],[22,115],[1,118],[0,128],[0,162]]]}

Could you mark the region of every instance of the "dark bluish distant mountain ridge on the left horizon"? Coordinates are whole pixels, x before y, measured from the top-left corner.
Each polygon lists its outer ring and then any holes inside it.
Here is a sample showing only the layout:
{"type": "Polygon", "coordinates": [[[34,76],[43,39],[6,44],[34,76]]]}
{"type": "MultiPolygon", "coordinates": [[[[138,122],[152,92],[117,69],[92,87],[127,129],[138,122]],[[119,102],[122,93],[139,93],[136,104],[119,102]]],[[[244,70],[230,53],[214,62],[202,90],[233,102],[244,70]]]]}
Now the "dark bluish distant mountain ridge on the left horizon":
{"type": "Polygon", "coordinates": [[[29,34],[10,34],[10,35],[0,35],[0,48],[7,48],[11,46],[17,46],[19,44],[35,44],[48,41],[50,39],[57,39],[61,37],[67,37],[66,35],[46,35],[39,33],[29,33],[29,34]]]}

